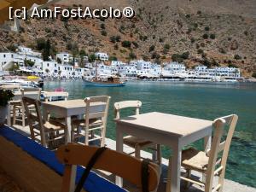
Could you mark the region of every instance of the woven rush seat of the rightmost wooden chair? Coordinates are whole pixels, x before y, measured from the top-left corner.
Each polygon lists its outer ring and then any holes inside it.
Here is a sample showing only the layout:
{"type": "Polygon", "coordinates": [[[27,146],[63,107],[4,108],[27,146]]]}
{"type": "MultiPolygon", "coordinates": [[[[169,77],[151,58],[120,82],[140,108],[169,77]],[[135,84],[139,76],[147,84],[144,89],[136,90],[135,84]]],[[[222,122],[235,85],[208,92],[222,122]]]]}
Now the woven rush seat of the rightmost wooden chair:
{"type": "Polygon", "coordinates": [[[207,172],[209,157],[204,151],[195,148],[183,150],[182,166],[187,169],[193,169],[197,172],[207,172]]]}

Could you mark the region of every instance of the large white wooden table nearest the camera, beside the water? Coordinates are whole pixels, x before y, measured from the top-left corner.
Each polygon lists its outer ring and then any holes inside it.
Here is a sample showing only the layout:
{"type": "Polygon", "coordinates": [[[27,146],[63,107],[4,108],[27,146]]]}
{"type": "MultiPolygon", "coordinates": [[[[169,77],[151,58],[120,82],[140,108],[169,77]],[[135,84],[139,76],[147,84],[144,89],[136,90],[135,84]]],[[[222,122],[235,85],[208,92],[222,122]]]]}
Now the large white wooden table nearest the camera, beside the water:
{"type": "MultiPolygon", "coordinates": [[[[203,137],[205,148],[210,148],[212,121],[157,112],[119,119],[116,120],[116,148],[119,152],[123,152],[124,134],[172,148],[166,191],[179,192],[182,148],[203,137]]],[[[116,184],[122,186],[122,178],[116,177],[116,184]]]]}

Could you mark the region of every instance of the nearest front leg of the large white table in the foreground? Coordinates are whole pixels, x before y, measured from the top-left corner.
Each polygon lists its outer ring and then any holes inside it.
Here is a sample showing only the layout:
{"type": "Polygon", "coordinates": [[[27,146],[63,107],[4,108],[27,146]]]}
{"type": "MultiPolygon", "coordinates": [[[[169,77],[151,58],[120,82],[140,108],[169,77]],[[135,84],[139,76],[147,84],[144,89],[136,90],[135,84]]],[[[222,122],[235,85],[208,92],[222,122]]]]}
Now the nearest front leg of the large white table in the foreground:
{"type": "Polygon", "coordinates": [[[169,160],[166,192],[180,191],[180,167],[181,167],[181,147],[172,148],[172,158],[169,160]]]}

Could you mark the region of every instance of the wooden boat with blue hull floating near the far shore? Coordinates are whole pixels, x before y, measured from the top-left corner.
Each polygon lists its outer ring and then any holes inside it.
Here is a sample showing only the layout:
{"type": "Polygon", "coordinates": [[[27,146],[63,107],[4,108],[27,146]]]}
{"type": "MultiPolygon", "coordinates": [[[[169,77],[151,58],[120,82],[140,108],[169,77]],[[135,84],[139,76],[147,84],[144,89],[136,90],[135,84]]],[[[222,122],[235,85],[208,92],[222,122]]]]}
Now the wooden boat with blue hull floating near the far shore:
{"type": "Polygon", "coordinates": [[[102,79],[92,79],[92,80],[85,80],[86,86],[95,86],[95,87],[122,87],[125,86],[125,81],[121,81],[119,77],[109,77],[106,80],[102,79]]]}

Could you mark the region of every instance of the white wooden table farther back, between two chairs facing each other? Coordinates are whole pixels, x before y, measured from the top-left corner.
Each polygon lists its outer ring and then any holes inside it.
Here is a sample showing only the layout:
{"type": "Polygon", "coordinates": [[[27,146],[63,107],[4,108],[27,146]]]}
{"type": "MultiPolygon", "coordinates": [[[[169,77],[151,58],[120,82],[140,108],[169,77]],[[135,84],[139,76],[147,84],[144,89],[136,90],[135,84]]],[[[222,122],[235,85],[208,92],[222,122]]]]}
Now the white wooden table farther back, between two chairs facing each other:
{"type": "MultiPolygon", "coordinates": [[[[102,111],[105,107],[105,102],[95,102],[90,104],[90,113],[102,111]]],[[[48,113],[54,113],[58,117],[63,117],[66,120],[67,132],[65,143],[71,142],[71,116],[83,115],[85,113],[85,102],[82,99],[57,101],[57,102],[42,102],[43,119],[48,119],[48,113]]]]}

